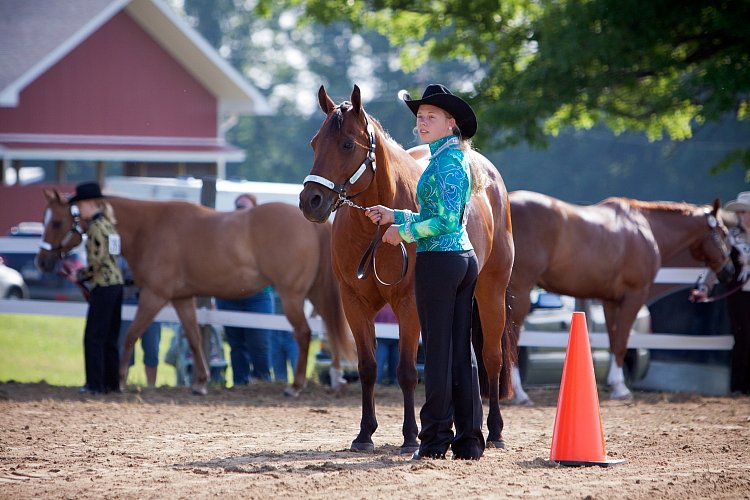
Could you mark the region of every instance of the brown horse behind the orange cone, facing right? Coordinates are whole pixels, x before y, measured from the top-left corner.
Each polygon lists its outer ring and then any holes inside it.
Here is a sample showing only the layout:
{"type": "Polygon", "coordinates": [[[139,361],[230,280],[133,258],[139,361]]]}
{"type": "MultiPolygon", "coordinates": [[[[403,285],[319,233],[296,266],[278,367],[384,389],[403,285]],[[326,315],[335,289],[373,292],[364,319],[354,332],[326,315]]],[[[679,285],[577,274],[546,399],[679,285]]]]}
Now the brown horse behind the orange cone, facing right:
{"type": "MultiPolygon", "coordinates": [[[[628,198],[581,206],[514,191],[510,206],[516,245],[508,287],[510,335],[518,336],[534,286],[601,299],[611,352],[607,383],[613,399],[632,397],[622,369],[628,336],[662,262],[689,249],[711,269],[724,269],[722,276],[733,267],[718,199],[710,208],[628,198]]],[[[523,388],[517,369],[514,372],[514,389],[520,395],[523,388]]]]}

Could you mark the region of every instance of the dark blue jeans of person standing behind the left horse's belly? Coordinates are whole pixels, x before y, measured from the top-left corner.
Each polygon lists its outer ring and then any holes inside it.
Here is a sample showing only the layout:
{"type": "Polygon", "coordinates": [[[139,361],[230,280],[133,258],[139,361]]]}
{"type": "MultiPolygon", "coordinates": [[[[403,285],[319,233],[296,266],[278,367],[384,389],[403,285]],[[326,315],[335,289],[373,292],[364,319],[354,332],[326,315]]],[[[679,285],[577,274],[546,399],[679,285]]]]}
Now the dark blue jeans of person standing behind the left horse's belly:
{"type": "MultiPolygon", "coordinates": [[[[242,299],[217,299],[216,307],[225,311],[273,314],[273,292],[267,288],[242,299]]],[[[246,385],[253,378],[271,380],[271,330],[227,326],[224,334],[229,343],[234,385],[246,385]]]]}

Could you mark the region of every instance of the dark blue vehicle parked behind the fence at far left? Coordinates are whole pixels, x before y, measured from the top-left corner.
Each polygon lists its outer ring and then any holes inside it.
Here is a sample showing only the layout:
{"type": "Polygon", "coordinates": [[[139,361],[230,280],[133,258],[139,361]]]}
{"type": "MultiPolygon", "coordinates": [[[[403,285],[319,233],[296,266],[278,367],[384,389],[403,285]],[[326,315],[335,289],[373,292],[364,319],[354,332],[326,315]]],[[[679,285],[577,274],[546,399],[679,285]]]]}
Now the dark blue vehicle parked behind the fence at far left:
{"type": "MultiPolygon", "coordinates": [[[[21,222],[11,228],[8,236],[14,238],[35,238],[41,240],[44,226],[40,222],[21,222]]],[[[5,264],[21,273],[29,290],[29,297],[41,300],[84,300],[81,290],[75,283],[57,274],[57,272],[43,273],[36,267],[36,251],[33,252],[5,252],[0,257],[5,264]]],[[[86,250],[81,243],[68,255],[74,268],[86,265],[86,250]]]]}

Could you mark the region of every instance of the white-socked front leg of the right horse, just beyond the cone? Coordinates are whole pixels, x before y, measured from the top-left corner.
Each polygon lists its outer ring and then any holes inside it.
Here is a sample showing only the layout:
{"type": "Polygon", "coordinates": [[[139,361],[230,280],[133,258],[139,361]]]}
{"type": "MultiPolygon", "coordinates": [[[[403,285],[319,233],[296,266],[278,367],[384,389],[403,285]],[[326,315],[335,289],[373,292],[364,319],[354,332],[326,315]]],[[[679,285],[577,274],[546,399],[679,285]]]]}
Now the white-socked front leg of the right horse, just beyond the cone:
{"type": "Polygon", "coordinates": [[[628,400],[633,397],[625,385],[622,367],[628,350],[630,329],[644,300],[645,294],[627,294],[620,302],[602,302],[609,335],[610,365],[607,384],[612,390],[611,399],[628,400]]]}

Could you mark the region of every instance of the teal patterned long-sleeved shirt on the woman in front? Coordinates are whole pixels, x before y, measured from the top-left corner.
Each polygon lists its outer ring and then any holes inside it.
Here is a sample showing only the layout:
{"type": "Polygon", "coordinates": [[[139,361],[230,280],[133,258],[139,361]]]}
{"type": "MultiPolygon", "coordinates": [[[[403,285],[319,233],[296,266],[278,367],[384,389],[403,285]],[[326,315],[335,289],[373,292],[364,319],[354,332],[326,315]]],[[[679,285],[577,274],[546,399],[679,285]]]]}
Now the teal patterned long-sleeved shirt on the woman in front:
{"type": "Polygon", "coordinates": [[[430,143],[430,162],[417,184],[420,211],[394,210],[395,224],[417,252],[471,250],[462,218],[471,197],[471,171],[453,135],[430,143]]]}

